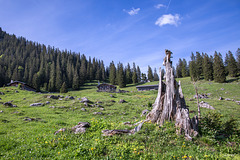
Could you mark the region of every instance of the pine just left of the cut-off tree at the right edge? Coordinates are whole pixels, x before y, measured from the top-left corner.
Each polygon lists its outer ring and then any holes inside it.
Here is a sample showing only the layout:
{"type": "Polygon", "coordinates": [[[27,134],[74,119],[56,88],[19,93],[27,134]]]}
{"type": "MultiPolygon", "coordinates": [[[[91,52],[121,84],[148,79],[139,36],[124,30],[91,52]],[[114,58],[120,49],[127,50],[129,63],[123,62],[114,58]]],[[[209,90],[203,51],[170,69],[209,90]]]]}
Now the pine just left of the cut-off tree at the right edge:
{"type": "Polygon", "coordinates": [[[229,56],[228,65],[227,65],[228,73],[231,77],[237,77],[237,71],[238,71],[237,62],[231,51],[228,51],[228,56],[229,56]]]}

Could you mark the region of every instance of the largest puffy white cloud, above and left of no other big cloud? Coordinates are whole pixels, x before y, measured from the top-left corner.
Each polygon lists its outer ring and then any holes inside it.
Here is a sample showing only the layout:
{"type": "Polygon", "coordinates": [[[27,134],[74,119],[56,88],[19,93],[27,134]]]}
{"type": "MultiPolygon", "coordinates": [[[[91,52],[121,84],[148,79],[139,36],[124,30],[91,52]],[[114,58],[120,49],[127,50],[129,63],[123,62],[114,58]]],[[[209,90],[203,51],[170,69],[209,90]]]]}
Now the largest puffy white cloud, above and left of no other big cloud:
{"type": "Polygon", "coordinates": [[[177,26],[180,22],[180,15],[179,14],[165,14],[157,19],[155,22],[155,25],[158,25],[159,27],[170,24],[177,26]]]}

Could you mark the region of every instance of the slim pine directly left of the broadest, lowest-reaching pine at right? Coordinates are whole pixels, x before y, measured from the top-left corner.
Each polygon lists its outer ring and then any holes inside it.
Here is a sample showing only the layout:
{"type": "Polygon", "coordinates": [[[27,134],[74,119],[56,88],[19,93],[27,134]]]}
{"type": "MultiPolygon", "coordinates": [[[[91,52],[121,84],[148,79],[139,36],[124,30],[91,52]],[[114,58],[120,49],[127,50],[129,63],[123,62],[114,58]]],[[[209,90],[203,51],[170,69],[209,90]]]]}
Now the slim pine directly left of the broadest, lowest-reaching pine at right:
{"type": "Polygon", "coordinates": [[[206,81],[213,80],[213,62],[206,53],[203,58],[203,76],[206,81]]]}

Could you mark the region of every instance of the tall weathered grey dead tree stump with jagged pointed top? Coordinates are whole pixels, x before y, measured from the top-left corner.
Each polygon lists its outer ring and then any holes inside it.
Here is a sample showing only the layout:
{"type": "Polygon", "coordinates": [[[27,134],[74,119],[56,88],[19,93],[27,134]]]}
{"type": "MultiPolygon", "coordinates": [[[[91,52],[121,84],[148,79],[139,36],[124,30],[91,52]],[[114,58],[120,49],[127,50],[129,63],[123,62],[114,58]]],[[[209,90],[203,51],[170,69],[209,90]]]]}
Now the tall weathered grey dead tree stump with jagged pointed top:
{"type": "MultiPolygon", "coordinates": [[[[191,136],[198,135],[198,117],[190,119],[181,83],[178,83],[174,78],[172,61],[170,60],[172,52],[169,50],[165,52],[166,57],[163,61],[166,70],[165,82],[162,81],[162,78],[159,79],[158,95],[153,109],[147,115],[147,120],[160,126],[166,120],[175,121],[177,134],[184,134],[187,139],[191,140],[191,136]]],[[[159,75],[161,75],[161,68],[159,75]]]]}

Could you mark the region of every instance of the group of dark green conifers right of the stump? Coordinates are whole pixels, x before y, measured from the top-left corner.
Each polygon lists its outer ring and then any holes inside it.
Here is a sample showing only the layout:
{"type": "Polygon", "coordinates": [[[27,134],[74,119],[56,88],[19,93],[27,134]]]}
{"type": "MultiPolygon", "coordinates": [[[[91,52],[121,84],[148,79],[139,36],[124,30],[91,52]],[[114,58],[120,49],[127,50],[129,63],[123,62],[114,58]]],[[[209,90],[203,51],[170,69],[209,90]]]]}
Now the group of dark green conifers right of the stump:
{"type": "Polygon", "coordinates": [[[191,77],[192,81],[205,79],[207,81],[223,83],[226,76],[237,77],[240,75],[240,48],[236,51],[236,58],[231,51],[228,51],[225,60],[221,53],[215,52],[214,56],[207,53],[191,54],[191,61],[179,59],[175,71],[176,77],[191,77]]]}

